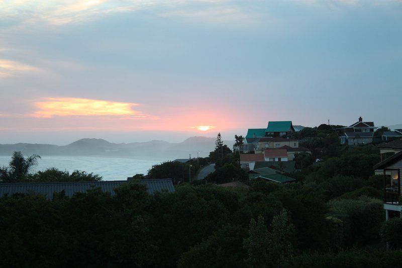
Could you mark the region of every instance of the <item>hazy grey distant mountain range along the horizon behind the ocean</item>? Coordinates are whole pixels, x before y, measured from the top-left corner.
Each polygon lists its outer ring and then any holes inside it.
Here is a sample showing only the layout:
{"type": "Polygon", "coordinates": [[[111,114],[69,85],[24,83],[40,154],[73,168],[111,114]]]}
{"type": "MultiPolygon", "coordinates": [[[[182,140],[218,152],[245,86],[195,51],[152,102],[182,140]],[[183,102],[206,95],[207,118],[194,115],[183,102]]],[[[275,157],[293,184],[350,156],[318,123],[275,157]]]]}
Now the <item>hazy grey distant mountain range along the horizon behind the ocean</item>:
{"type": "MultiPolygon", "coordinates": [[[[234,141],[224,141],[229,148],[234,141]]],[[[153,159],[175,159],[208,156],[215,148],[215,138],[190,137],[180,143],[153,140],[148,142],[111,143],[104,139],[80,139],[68,145],[51,144],[0,144],[0,155],[11,155],[14,151],[39,155],[111,156],[153,159]]]]}

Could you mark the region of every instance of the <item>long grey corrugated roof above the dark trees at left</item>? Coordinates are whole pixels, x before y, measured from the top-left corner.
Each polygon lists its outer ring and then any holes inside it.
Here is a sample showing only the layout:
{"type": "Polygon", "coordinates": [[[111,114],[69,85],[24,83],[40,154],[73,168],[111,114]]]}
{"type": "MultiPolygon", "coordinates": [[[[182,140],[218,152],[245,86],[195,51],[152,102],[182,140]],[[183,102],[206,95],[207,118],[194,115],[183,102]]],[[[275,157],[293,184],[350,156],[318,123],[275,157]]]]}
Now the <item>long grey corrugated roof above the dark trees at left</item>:
{"type": "MultiPolygon", "coordinates": [[[[116,187],[127,183],[127,181],[105,181],[105,182],[69,182],[69,183],[0,183],[0,197],[5,194],[41,194],[48,199],[53,198],[53,193],[60,193],[64,190],[65,195],[72,197],[75,193],[86,193],[87,190],[100,187],[103,192],[115,194],[116,187]]],[[[140,183],[147,186],[149,194],[166,190],[169,193],[174,192],[172,180],[170,178],[140,180],[140,183]]]]}

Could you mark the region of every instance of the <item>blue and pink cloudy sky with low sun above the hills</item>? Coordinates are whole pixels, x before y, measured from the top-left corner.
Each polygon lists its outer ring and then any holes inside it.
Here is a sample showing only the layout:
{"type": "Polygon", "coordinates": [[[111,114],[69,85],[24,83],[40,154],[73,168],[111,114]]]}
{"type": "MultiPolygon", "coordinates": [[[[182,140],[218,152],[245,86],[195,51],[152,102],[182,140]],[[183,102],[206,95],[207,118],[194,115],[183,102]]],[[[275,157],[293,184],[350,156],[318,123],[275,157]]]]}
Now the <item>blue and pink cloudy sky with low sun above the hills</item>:
{"type": "Polygon", "coordinates": [[[400,0],[0,1],[0,143],[402,123],[400,0]]]}

